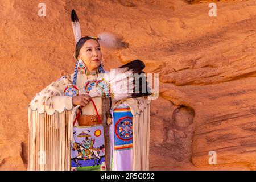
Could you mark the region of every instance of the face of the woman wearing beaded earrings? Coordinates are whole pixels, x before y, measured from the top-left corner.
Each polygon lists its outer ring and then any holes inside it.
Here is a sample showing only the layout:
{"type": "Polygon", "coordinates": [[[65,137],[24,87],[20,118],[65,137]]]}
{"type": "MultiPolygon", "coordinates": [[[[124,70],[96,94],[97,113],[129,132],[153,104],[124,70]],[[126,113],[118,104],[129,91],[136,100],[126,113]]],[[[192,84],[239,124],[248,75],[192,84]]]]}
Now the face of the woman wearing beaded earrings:
{"type": "Polygon", "coordinates": [[[101,49],[98,42],[94,39],[86,40],[80,49],[77,59],[82,59],[89,71],[96,70],[101,64],[101,49]]]}

